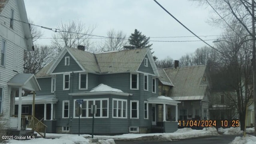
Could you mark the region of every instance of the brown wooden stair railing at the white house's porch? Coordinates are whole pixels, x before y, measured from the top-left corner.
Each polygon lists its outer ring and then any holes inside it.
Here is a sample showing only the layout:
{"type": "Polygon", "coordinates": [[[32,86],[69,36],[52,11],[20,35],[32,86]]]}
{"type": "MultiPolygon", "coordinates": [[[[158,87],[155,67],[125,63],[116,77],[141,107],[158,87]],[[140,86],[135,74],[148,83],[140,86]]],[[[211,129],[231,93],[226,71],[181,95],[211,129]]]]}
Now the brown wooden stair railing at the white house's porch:
{"type": "MultiPolygon", "coordinates": [[[[18,116],[15,115],[14,117],[18,117],[18,116]]],[[[33,117],[31,115],[21,116],[21,121],[23,126],[27,125],[28,128],[32,128],[32,130],[35,130],[40,136],[45,138],[47,126],[44,124],[43,120],[44,118],[42,118],[41,120],[38,120],[36,117],[33,117]]]]}

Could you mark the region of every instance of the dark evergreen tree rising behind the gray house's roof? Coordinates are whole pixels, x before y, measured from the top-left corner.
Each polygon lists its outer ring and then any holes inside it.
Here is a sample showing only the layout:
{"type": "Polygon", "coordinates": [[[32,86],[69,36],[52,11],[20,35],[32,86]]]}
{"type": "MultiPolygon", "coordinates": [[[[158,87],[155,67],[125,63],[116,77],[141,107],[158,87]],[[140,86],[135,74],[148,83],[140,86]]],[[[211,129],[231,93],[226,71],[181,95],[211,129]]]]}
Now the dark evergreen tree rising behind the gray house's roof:
{"type": "Polygon", "coordinates": [[[134,49],[134,48],[150,48],[152,44],[148,44],[150,37],[146,37],[144,34],[141,34],[137,29],[134,30],[134,33],[131,34],[129,38],[130,46],[124,46],[126,49],[134,49]]]}

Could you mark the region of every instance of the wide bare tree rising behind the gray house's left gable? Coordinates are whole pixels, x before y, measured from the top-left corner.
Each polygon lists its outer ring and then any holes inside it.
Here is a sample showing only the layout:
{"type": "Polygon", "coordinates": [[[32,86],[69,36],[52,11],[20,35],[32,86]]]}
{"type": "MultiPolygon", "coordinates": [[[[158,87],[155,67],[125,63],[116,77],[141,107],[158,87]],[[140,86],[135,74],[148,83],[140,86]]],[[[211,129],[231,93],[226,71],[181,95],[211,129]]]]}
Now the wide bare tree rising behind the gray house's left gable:
{"type": "Polygon", "coordinates": [[[60,52],[64,46],[77,48],[82,45],[86,47],[87,51],[90,51],[90,38],[95,26],[86,26],[81,21],[69,21],[61,22],[57,26],[60,32],[53,35],[52,46],[57,52],[60,52]]]}

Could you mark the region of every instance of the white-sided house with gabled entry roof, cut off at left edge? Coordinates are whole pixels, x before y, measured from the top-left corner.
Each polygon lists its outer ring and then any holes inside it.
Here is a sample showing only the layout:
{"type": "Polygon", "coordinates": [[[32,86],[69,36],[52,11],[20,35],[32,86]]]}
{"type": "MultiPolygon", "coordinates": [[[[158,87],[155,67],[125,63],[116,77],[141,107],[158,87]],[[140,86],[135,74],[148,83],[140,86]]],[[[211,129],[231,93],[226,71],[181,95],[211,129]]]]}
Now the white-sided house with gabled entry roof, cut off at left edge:
{"type": "Polygon", "coordinates": [[[40,90],[34,74],[22,74],[24,50],[34,50],[24,1],[0,0],[0,113],[6,128],[18,130],[21,104],[18,118],[12,118],[15,96],[21,98],[22,90],[40,90]]]}

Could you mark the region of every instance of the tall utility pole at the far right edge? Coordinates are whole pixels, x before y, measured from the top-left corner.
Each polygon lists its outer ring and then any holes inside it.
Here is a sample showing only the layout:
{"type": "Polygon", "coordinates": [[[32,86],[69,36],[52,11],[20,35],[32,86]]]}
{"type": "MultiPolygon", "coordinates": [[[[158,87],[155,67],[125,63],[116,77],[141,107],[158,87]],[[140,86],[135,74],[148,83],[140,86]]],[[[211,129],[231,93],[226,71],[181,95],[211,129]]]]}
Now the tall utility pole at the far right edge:
{"type": "Polygon", "coordinates": [[[254,135],[256,135],[256,48],[255,48],[255,15],[254,0],[252,0],[252,76],[253,76],[253,102],[254,102],[254,135]]]}

